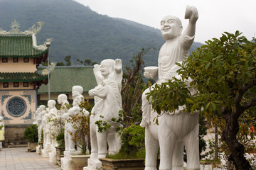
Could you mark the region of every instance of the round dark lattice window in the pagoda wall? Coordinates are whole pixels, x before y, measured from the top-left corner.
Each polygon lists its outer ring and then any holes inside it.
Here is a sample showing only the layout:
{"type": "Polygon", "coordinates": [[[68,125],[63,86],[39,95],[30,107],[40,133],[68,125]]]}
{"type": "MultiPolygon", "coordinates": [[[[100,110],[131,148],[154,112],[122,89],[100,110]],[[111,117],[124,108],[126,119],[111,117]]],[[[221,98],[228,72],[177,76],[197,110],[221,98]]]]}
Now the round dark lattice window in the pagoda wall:
{"type": "Polygon", "coordinates": [[[20,117],[26,112],[26,102],[20,97],[11,98],[6,105],[9,115],[20,117]]]}

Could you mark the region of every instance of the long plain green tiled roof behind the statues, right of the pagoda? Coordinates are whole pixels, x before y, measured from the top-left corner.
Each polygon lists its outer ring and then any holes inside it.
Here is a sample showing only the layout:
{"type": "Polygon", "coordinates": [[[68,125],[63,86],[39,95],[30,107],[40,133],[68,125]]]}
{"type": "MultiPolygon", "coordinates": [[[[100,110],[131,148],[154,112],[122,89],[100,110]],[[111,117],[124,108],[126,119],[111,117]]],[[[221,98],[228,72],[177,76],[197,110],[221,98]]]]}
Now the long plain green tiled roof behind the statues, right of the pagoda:
{"type": "MultiPolygon", "coordinates": [[[[46,67],[38,67],[45,69],[46,67]]],[[[72,87],[78,85],[82,86],[84,92],[97,86],[95,76],[93,74],[93,67],[58,67],[50,72],[50,93],[61,94],[71,93],[72,87]]],[[[42,84],[38,89],[38,94],[47,94],[48,84],[42,84]]]]}

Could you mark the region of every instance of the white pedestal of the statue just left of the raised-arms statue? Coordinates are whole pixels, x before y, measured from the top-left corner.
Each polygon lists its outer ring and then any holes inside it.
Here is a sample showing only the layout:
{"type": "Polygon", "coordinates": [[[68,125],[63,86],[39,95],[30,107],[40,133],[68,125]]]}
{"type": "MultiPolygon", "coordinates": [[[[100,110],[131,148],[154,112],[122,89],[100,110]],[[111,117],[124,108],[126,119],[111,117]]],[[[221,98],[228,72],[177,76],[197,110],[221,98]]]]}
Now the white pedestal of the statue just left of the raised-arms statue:
{"type": "Polygon", "coordinates": [[[76,166],[71,159],[71,155],[80,154],[80,152],[64,151],[64,157],[61,158],[61,169],[63,170],[75,170],[76,166]]]}

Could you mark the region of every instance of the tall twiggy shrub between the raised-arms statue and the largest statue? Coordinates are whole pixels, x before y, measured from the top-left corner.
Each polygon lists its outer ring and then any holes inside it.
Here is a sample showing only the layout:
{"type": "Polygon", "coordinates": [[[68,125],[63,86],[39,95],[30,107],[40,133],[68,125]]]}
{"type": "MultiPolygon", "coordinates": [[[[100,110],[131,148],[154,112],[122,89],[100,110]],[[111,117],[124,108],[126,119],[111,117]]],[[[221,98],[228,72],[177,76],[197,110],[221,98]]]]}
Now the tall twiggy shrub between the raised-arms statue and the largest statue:
{"type": "Polygon", "coordinates": [[[142,79],[142,69],[144,67],[144,55],[150,49],[144,49],[132,57],[130,64],[125,66],[122,81],[122,108],[124,116],[124,128],[129,125],[138,125],[142,121],[142,93],[146,86],[142,79]]]}

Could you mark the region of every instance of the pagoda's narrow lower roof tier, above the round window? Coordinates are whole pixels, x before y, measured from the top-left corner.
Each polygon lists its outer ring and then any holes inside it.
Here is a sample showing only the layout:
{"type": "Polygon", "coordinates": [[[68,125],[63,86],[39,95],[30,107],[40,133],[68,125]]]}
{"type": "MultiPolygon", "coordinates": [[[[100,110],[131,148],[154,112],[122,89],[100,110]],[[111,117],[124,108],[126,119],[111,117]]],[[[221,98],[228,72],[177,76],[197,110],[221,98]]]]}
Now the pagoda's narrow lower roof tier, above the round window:
{"type": "Polygon", "coordinates": [[[14,73],[2,73],[0,72],[1,82],[12,82],[12,81],[41,81],[47,79],[48,75],[42,75],[38,72],[27,73],[27,72],[14,72],[14,73]]]}

